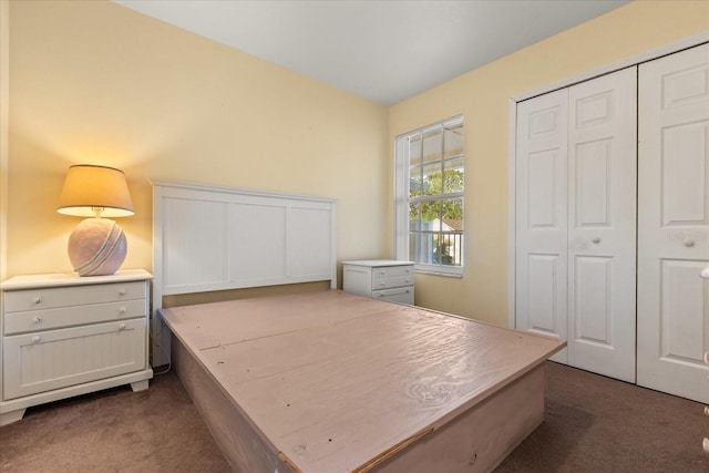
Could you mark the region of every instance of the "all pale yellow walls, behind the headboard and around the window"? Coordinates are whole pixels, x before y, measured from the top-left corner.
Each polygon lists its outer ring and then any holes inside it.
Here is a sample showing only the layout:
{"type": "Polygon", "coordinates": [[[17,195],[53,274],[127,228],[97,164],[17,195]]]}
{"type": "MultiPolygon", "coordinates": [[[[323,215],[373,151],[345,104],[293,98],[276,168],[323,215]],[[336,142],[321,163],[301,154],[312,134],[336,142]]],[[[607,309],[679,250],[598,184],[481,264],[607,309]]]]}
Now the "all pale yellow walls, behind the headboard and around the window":
{"type": "Polygon", "coordinates": [[[390,143],[462,113],[465,276],[418,276],[417,302],[504,325],[510,97],[706,30],[709,2],[635,1],[387,110],[106,1],[13,0],[2,266],[71,270],[76,163],[129,176],[124,267],[151,268],[151,177],[333,196],[338,259],[390,257],[390,143]]]}

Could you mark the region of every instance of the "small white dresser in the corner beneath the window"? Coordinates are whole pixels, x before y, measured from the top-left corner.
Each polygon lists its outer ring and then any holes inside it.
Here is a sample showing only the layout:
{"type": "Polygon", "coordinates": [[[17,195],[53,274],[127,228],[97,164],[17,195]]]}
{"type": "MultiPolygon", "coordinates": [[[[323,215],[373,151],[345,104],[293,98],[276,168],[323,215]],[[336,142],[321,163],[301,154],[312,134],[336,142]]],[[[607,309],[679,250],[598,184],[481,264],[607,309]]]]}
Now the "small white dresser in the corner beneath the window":
{"type": "Polygon", "coordinates": [[[413,275],[411,261],[342,261],[342,289],[376,299],[413,305],[413,275]]]}

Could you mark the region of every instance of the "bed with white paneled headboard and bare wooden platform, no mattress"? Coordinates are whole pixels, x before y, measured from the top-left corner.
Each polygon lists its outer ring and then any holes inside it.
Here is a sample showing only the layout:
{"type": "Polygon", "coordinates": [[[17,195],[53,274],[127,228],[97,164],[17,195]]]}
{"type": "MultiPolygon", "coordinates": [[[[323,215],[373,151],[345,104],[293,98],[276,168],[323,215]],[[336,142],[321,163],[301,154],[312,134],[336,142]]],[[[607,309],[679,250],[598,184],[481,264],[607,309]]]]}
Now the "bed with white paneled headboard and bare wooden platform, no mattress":
{"type": "Polygon", "coordinates": [[[338,290],[335,200],[153,188],[153,366],[235,471],[485,472],[543,421],[564,343],[338,290]]]}

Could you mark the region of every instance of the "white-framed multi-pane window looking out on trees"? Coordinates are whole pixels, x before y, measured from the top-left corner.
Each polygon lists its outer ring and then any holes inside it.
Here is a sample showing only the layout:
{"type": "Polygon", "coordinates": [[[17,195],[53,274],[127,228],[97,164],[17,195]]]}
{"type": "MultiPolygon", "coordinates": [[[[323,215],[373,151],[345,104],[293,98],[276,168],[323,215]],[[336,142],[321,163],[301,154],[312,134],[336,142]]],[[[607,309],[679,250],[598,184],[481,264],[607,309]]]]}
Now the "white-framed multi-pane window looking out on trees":
{"type": "Polygon", "coordinates": [[[463,117],[398,136],[397,258],[417,271],[463,274],[463,117]]]}

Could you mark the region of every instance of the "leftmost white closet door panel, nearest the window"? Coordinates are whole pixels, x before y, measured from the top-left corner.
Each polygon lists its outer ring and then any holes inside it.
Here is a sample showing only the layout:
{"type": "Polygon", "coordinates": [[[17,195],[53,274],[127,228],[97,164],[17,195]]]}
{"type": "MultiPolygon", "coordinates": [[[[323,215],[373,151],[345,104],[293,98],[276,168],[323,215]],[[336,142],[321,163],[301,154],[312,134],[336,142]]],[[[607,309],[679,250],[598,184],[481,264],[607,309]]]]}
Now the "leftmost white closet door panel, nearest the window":
{"type": "MultiPolygon", "coordinates": [[[[517,105],[516,327],[566,340],[568,90],[517,105]]],[[[566,349],[555,361],[566,362],[566,349]]]]}

